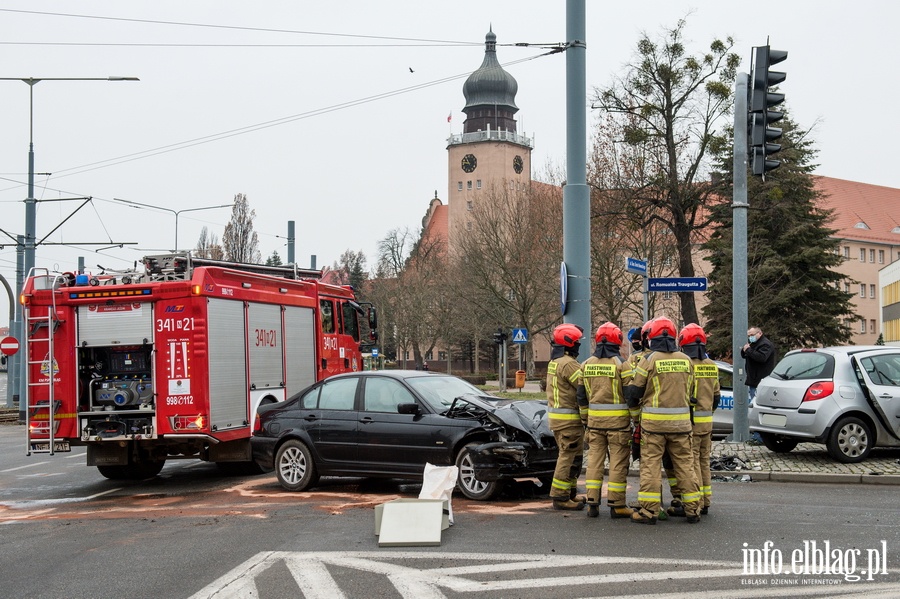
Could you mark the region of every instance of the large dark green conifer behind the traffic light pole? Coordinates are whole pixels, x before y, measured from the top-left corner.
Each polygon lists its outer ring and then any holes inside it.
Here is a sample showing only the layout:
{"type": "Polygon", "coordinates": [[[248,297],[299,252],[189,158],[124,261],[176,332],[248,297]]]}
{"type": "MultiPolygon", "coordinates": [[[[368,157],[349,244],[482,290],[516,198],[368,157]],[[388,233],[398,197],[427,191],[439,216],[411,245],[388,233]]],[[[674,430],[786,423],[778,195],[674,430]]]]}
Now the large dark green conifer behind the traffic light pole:
{"type": "MultiPolygon", "coordinates": [[[[851,339],[856,319],[844,275],[833,270],[843,258],[829,228],[832,211],[822,206],[811,163],[816,155],[809,131],[785,116],[778,154],[781,167],[748,176],[747,299],[748,324],[759,326],[780,354],[799,347],[839,345],[851,339]]],[[[733,139],[714,148],[722,202],[713,208],[718,224],[704,249],[713,266],[703,309],[707,347],[729,356],[732,338],[732,177],[733,139]]]]}

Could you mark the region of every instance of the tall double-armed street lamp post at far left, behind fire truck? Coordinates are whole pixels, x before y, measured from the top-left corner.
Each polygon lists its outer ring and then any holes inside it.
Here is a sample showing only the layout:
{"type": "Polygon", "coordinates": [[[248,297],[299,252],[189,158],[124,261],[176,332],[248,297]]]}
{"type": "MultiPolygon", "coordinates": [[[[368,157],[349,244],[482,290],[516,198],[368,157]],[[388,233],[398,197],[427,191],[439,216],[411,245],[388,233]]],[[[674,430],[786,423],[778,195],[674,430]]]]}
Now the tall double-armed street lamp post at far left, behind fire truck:
{"type": "MultiPolygon", "coordinates": [[[[35,228],[37,216],[37,200],[34,197],[34,86],[41,81],[140,81],[137,77],[0,77],[0,81],[23,81],[28,85],[28,197],[25,199],[25,246],[22,271],[17,277],[25,280],[25,277],[34,268],[35,228]]],[[[22,312],[19,303],[16,302],[16,331],[21,335],[25,333],[25,325],[22,323],[22,312]]],[[[18,368],[21,376],[13,379],[13,395],[20,397],[19,416],[23,419],[25,404],[21,400],[21,386],[26,384],[27,360],[20,357],[18,368]]]]}

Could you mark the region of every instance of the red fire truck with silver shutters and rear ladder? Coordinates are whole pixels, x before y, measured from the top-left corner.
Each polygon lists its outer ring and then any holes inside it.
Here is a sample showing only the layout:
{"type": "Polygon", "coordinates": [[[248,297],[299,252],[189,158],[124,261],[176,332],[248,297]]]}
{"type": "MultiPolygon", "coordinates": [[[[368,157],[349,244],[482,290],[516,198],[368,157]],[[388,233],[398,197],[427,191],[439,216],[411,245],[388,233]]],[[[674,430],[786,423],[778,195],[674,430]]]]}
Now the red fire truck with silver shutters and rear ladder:
{"type": "Polygon", "coordinates": [[[111,479],[153,476],[168,459],[251,469],[257,408],[362,369],[376,339],[371,304],[315,270],[181,253],[140,271],[32,275],[27,451],[84,445],[111,479]]]}

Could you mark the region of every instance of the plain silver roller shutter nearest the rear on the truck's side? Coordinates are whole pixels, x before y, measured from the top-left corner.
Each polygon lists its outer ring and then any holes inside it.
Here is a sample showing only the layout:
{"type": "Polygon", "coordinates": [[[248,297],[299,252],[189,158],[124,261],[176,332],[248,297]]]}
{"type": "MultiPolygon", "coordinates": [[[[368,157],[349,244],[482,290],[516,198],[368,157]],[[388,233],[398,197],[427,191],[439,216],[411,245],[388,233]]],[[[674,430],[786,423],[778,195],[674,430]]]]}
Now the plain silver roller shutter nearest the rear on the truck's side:
{"type": "Polygon", "coordinates": [[[222,431],[247,426],[244,303],[209,298],[209,423],[222,431]]]}

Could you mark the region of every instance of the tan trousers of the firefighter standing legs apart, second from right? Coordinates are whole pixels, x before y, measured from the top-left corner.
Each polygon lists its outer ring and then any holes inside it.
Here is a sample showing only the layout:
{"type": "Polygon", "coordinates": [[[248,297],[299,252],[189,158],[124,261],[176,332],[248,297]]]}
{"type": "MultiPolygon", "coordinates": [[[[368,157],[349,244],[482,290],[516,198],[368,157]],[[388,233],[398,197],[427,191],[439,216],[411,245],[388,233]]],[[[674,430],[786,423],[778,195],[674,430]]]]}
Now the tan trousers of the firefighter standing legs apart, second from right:
{"type": "Polygon", "coordinates": [[[691,433],[652,433],[647,430],[641,431],[641,486],[638,491],[641,513],[646,517],[659,515],[662,501],[660,469],[667,451],[672,457],[684,511],[688,516],[696,516],[700,512],[700,487],[694,472],[691,433]]]}

